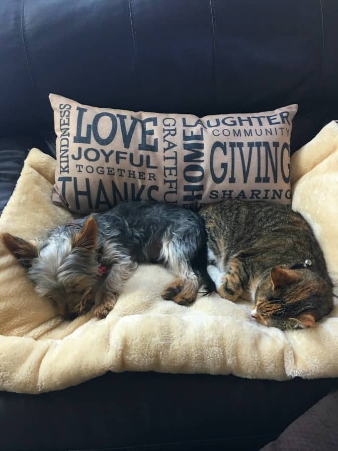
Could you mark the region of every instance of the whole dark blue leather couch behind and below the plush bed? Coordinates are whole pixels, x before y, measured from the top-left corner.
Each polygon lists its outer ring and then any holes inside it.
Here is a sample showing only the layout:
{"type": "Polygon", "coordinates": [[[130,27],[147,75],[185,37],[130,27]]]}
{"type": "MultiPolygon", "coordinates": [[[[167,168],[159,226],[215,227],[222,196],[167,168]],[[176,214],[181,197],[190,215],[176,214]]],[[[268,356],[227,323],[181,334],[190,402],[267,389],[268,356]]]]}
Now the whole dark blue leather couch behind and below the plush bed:
{"type": "MultiPolygon", "coordinates": [[[[1,0],[0,211],[27,149],[55,155],[50,92],[197,115],[298,103],[294,152],[338,118],[337,23],[337,0],[1,0]]],[[[335,385],[107,373],[2,392],[0,450],[254,451],[335,385]]]]}

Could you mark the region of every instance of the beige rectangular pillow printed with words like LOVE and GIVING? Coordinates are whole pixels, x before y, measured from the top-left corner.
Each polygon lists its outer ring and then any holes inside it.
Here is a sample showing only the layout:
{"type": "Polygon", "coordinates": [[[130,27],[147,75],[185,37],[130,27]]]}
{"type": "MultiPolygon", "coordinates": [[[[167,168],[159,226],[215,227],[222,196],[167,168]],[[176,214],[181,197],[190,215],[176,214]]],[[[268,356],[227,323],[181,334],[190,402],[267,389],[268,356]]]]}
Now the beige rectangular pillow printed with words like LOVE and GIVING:
{"type": "Polygon", "coordinates": [[[192,208],[229,198],[291,203],[296,104],[199,118],[49,98],[57,135],[52,199],[74,212],[106,210],[125,199],[192,208]]]}

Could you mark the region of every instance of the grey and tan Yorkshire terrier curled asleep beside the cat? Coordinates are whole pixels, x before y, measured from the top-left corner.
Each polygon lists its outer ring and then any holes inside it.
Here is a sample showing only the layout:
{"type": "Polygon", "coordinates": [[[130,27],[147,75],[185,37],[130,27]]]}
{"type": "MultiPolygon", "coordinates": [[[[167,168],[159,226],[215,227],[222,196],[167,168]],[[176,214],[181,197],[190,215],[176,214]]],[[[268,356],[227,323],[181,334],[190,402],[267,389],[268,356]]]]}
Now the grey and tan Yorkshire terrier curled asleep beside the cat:
{"type": "Polygon", "coordinates": [[[210,283],[203,219],[168,204],[124,201],[59,226],[42,241],[9,233],[2,240],[36,292],[69,320],[93,306],[96,317],[106,317],[139,263],[159,263],[176,275],[162,297],[180,305],[193,302],[200,286],[210,283]]]}

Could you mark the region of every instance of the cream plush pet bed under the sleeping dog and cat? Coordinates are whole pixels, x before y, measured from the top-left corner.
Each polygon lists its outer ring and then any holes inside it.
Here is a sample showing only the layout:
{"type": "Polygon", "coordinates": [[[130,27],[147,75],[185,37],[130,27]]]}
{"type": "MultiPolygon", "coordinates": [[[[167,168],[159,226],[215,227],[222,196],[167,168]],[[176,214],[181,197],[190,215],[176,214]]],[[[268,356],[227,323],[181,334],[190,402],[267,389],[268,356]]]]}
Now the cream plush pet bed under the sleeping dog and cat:
{"type": "MultiPolygon", "coordinates": [[[[293,207],[313,225],[338,284],[338,125],[327,125],[292,162],[293,207]]],[[[31,239],[70,222],[50,201],[55,161],[32,149],[0,217],[0,232],[31,239]]],[[[338,376],[338,303],[317,327],[281,332],[250,316],[250,303],[217,294],[182,307],[160,297],[172,276],[143,265],[104,320],[67,322],[38,298],[0,243],[0,389],[39,393],[106,371],[235,374],[289,379],[338,376]]]]}

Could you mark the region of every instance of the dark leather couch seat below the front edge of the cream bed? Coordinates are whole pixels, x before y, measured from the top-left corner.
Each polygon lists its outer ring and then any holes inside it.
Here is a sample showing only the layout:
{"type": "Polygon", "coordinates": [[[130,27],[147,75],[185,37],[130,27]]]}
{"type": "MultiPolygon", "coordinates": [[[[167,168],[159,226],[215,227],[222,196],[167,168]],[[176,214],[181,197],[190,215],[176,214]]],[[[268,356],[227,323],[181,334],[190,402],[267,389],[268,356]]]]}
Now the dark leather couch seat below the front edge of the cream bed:
{"type": "Polygon", "coordinates": [[[335,383],[125,372],[38,396],[0,392],[0,449],[257,451],[335,383]]]}

